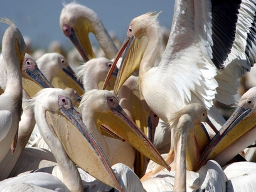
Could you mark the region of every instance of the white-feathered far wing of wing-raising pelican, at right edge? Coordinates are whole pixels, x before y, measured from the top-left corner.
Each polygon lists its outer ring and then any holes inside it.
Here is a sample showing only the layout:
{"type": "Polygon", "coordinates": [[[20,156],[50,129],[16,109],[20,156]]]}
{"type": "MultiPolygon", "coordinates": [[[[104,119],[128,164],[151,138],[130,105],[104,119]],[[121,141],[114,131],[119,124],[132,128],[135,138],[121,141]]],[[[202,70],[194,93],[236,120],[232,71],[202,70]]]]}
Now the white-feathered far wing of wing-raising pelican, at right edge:
{"type": "Polygon", "coordinates": [[[250,71],[256,60],[255,45],[255,11],[256,4],[252,1],[243,1],[239,9],[237,32],[235,42],[227,61],[225,70],[217,72],[215,77],[218,82],[216,99],[223,104],[233,104],[240,86],[238,78],[250,71]],[[228,88],[228,89],[227,89],[228,88]]]}

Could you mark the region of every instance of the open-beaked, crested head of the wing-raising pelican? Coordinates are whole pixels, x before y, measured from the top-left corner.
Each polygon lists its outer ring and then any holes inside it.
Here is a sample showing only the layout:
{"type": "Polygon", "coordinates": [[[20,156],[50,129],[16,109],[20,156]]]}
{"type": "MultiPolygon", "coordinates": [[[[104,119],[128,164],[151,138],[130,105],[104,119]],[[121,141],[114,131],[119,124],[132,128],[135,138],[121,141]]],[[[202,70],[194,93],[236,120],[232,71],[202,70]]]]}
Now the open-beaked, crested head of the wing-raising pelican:
{"type": "MultiPolygon", "coordinates": [[[[149,44],[151,42],[151,38],[154,38],[154,40],[161,40],[163,38],[161,28],[157,21],[158,15],[159,13],[146,13],[142,14],[137,18],[132,19],[127,29],[127,36],[125,38],[125,41],[122,47],[120,48],[119,53],[117,53],[117,56],[115,57],[114,63],[112,65],[113,69],[110,69],[110,72],[105,80],[103,88],[105,88],[105,85],[107,85],[107,82],[110,78],[110,74],[112,73],[112,70],[114,70],[116,63],[122,55],[122,52],[125,50],[125,48],[126,50],[122,58],[122,63],[119,68],[117,80],[115,82],[115,95],[117,95],[117,92],[119,91],[120,87],[133,73],[137,72],[138,70],[140,70],[140,72],[141,70],[149,70],[149,68],[141,69],[140,64],[143,59],[144,53],[147,51],[147,47],[150,48],[151,46],[159,46],[160,48],[161,46],[161,41],[154,41],[154,43],[156,43],[154,45],[149,44]],[[151,34],[154,34],[156,36],[153,36],[151,34]]],[[[151,56],[149,56],[148,59],[150,59],[150,57],[151,56]]]]}

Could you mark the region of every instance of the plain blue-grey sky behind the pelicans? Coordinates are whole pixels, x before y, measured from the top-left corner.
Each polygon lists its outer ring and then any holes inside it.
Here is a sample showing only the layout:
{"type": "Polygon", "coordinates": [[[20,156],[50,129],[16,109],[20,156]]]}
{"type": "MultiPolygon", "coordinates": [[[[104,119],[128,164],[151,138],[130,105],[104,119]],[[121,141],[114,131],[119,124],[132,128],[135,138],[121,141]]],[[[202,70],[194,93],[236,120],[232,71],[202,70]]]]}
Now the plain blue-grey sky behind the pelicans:
{"type": "MultiPolygon", "coordinates": [[[[51,41],[60,41],[65,50],[70,50],[73,45],[63,35],[59,24],[62,3],[62,0],[1,0],[0,18],[14,21],[23,36],[31,38],[31,46],[35,49],[47,48],[51,41]]],[[[168,29],[173,20],[174,0],[78,0],[77,3],[93,9],[107,31],[114,31],[120,41],[124,41],[131,20],[148,11],[162,11],[159,23],[168,29]]],[[[7,28],[8,24],[0,23],[1,41],[7,28]]],[[[92,41],[95,43],[95,39],[92,41]]]]}

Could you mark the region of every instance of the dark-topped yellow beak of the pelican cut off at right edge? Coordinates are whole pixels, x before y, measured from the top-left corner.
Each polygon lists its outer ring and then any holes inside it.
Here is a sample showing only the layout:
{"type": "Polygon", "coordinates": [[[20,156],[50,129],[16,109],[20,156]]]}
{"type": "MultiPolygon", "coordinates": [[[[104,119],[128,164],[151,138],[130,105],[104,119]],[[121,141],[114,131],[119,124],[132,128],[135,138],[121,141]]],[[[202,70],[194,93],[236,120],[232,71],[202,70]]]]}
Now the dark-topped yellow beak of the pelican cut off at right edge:
{"type": "Polygon", "coordinates": [[[252,108],[237,107],[218,133],[211,139],[199,160],[199,166],[213,159],[232,142],[243,136],[256,124],[256,112],[252,108]]]}

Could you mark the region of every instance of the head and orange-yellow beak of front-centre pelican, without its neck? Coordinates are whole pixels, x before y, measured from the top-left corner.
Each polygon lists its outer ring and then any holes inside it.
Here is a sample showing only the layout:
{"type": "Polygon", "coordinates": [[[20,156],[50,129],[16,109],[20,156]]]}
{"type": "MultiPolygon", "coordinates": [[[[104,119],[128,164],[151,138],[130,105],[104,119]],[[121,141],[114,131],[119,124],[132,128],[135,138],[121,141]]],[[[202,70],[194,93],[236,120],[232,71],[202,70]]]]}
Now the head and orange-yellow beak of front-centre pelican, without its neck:
{"type": "Polygon", "coordinates": [[[166,164],[156,147],[120,107],[119,101],[113,93],[107,90],[89,90],[83,95],[79,107],[83,119],[90,117],[87,115],[88,109],[93,111],[91,113],[93,114],[92,118],[95,119],[95,124],[101,134],[103,133],[100,130],[100,125],[108,125],[139,152],[170,170],[169,165],[166,164]]]}

